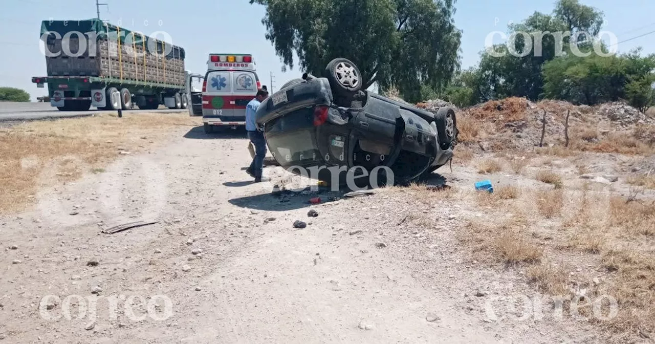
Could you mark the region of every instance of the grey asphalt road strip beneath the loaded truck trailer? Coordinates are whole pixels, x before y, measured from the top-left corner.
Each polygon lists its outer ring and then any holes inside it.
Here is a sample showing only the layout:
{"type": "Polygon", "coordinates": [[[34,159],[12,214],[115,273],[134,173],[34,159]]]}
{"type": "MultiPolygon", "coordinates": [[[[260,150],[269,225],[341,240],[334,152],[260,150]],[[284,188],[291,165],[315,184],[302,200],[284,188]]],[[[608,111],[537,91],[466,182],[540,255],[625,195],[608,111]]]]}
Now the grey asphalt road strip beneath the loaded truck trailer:
{"type": "MultiPolygon", "coordinates": [[[[125,115],[129,113],[143,113],[143,112],[162,112],[174,113],[180,111],[189,111],[187,109],[171,110],[163,107],[157,110],[126,110],[125,115]]],[[[94,107],[89,111],[59,111],[56,107],[50,106],[50,103],[14,103],[14,102],[0,102],[0,122],[3,121],[34,121],[37,119],[52,119],[52,118],[66,118],[66,117],[84,117],[94,113],[108,112],[107,110],[96,110],[94,107]]]]}

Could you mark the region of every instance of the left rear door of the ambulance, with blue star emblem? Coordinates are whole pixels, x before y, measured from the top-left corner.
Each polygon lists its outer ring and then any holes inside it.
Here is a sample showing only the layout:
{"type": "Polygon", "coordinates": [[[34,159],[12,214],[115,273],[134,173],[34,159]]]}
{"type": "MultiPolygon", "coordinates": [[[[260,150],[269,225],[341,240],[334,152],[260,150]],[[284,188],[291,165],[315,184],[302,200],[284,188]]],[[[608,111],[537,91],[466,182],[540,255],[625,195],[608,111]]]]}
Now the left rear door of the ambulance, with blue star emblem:
{"type": "Polygon", "coordinates": [[[233,121],[232,87],[231,71],[209,71],[205,92],[202,92],[202,117],[220,119],[223,122],[233,121]]]}

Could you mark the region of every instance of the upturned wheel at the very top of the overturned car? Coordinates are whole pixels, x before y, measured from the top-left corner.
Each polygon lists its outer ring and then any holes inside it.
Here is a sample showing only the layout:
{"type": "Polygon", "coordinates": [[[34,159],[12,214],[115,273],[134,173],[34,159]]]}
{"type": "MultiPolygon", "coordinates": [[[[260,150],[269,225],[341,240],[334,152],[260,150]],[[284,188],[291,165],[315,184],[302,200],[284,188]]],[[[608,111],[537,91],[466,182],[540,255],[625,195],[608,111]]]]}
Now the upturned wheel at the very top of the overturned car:
{"type": "Polygon", "coordinates": [[[326,66],[325,75],[335,98],[352,98],[362,89],[360,69],[346,58],[335,58],[326,66]]]}

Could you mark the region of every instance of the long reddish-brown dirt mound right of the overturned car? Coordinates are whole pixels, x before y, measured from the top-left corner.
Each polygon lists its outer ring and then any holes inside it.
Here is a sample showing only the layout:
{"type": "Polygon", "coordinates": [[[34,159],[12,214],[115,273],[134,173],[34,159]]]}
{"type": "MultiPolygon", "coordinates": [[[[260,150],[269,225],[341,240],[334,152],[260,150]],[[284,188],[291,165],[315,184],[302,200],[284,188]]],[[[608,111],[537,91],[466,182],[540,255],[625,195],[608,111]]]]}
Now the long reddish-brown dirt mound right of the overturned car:
{"type": "Polygon", "coordinates": [[[618,102],[591,107],[561,100],[533,103],[525,98],[512,97],[462,109],[457,119],[462,142],[476,143],[484,150],[488,150],[487,147],[496,150],[539,145],[544,117],[544,147],[562,144],[566,141],[567,116],[569,140],[578,149],[597,150],[595,145],[609,138],[614,140],[611,147],[615,143],[641,147],[655,142],[648,139],[655,133],[654,119],[618,102]],[[623,136],[619,137],[619,134],[623,136]]]}

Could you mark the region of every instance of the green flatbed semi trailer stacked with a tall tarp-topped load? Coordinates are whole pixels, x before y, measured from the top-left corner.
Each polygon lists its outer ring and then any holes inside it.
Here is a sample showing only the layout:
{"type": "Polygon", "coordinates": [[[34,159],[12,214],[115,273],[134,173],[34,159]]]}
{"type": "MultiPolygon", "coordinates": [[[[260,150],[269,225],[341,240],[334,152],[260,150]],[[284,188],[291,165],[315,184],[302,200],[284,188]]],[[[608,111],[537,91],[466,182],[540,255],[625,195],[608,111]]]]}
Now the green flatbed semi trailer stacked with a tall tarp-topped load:
{"type": "Polygon", "coordinates": [[[89,20],[44,20],[41,41],[50,105],[61,111],[186,109],[187,74],[181,47],[89,20]]]}

